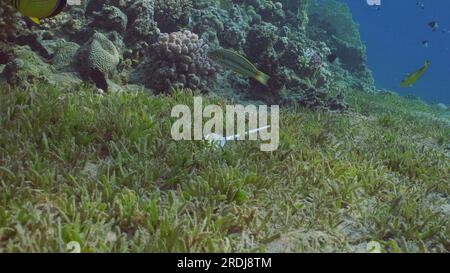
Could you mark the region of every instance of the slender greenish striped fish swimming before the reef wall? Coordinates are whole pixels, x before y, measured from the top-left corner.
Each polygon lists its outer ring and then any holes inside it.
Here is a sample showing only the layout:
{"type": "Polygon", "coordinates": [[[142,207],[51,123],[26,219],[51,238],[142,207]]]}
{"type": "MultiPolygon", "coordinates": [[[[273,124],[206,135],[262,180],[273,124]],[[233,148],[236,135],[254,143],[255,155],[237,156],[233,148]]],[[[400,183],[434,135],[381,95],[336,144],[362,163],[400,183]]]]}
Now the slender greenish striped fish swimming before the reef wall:
{"type": "Polygon", "coordinates": [[[267,85],[270,77],[259,71],[244,56],[229,49],[212,50],[208,53],[211,60],[221,66],[231,69],[242,76],[252,77],[263,85],[267,85]]]}

